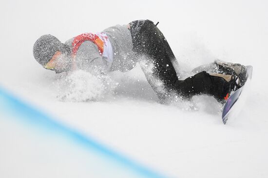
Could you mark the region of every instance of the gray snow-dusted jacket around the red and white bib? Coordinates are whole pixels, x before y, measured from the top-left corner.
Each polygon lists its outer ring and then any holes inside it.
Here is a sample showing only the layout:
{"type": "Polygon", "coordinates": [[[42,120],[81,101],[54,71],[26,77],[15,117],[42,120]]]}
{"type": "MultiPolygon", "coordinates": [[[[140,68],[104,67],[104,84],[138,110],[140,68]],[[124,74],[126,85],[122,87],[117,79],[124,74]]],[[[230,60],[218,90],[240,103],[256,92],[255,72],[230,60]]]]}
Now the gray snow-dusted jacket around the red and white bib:
{"type": "MultiPolygon", "coordinates": [[[[132,36],[126,25],[116,25],[102,31],[107,34],[113,48],[114,60],[110,68],[106,57],[99,54],[96,44],[85,41],[77,50],[76,62],[79,69],[87,71],[109,72],[119,70],[126,72],[132,69],[137,59],[133,52],[132,36]]],[[[65,42],[72,47],[74,38],[65,42]]]]}

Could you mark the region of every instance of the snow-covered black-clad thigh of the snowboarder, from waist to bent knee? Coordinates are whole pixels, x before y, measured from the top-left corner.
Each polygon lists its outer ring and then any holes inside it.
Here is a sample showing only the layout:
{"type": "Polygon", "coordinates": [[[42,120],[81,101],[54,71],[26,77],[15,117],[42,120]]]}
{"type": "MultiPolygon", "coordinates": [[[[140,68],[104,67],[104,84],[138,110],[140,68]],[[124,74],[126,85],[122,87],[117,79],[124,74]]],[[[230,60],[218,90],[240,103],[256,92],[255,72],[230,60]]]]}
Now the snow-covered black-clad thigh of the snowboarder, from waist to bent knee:
{"type": "Polygon", "coordinates": [[[150,20],[130,23],[134,51],[140,56],[140,66],[160,100],[174,91],[178,80],[172,61],[176,61],[164,35],[150,20]]]}

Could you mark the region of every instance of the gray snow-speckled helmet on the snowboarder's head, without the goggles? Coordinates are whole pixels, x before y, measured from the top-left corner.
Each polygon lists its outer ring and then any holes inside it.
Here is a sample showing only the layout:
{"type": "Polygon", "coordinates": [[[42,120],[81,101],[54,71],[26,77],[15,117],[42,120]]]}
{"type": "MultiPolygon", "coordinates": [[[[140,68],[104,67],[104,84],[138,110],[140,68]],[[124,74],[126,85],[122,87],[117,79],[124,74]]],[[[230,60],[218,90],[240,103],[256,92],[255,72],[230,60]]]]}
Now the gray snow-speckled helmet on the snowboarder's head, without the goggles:
{"type": "Polygon", "coordinates": [[[61,43],[51,34],[42,35],[34,44],[34,57],[42,66],[46,65],[51,60],[56,51],[70,53],[70,49],[67,45],[61,43]]]}

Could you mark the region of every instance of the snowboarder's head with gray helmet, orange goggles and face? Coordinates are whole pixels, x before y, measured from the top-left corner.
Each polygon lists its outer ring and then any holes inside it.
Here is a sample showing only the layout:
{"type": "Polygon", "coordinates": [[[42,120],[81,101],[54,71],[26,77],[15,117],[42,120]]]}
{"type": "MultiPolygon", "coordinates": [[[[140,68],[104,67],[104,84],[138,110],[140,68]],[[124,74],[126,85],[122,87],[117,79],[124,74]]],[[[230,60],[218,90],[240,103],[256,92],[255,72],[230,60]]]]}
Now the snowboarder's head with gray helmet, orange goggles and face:
{"type": "Polygon", "coordinates": [[[45,34],[38,38],[34,44],[33,53],[40,65],[58,73],[66,70],[69,63],[66,56],[70,56],[71,49],[55,36],[45,34]]]}

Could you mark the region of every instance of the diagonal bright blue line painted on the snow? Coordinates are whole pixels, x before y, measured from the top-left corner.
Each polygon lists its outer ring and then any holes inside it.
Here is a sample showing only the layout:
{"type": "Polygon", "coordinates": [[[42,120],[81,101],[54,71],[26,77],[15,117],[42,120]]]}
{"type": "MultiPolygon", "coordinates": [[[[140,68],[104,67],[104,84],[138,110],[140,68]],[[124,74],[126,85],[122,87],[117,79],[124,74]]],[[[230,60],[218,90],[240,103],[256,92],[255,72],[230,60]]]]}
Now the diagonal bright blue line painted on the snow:
{"type": "Polygon", "coordinates": [[[13,115],[17,115],[19,118],[27,119],[26,121],[30,121],[30,123],[39,124],[48,129],[55,129],[63,133],[65,136],[78,141],[80,144],[88,147],[89,149],[95,149],[110,159],[115,160],[116,162],[119,162],[124,166],[134,170],[141,176],[148,178],[166,178],[165,176],[153,172],[152,170],[149,170],[137,162],[134,162],[125,156],[122,156],[121,154],[116,153],[115,151],[112,151],[111,149],[97,143],[89,136],[84,136],[76,130],[64,126],[63,124],[57,122],[55,119],[49,117],[47,114],[38,111],[29,104],[26,104],[25,102],[12,96],[8,92],[4,91],[4,89],[1,87],[0,102],[4,102],[5,108],[12,109],[13,115]]]}

